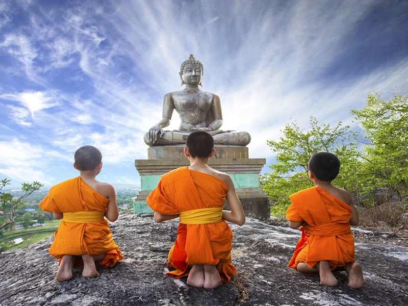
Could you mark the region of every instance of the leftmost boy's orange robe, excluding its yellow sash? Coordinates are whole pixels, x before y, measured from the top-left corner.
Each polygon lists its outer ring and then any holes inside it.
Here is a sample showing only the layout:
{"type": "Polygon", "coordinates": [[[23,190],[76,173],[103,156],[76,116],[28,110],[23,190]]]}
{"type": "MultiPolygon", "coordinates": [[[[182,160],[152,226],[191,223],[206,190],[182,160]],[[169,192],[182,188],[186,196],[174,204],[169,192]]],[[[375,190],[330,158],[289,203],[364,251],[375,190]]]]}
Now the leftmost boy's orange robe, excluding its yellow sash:
{"type": "MultiPolygon", "coordinates": [[[[101,220],[95,223],[73,223],[62,220],[48,252],[54,258],[60,259],[60,263],[64,255],[106,253],[103,261],[96,262],[97,266],[105,268],[113,267],[117,261],[122,260],[121,251],[111,238],[108,221],[103,218],[108,202],[109,199],[86,185],[81,180],[81,176],[51,187],[48,195],[39,203],[42,210],[63,214],[92,211],[100,214],[101,220]]],[[[83,262],[78,261],[74,266],[82,267],[83,262]]]]}

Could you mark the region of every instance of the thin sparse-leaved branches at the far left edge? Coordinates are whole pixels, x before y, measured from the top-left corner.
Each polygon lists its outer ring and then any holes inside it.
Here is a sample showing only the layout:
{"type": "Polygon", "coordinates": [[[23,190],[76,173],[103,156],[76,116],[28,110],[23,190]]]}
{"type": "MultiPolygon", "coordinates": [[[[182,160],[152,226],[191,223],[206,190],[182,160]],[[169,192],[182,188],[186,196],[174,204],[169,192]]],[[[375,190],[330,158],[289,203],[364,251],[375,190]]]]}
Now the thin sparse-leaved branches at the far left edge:
{"type": "Polygon", "coordinates": [[[7,185],[10,185],[10,180],[3,179],[0,181],[0,205],[4,216],[6,216],[6,221],[0,225],[0,230],[2,230],[2,228],[8,224],[14,223],[14,219],[16,218],[16,209],[24,204],[22,199],[28,197],[34,191],[40,190],[40,188],[43,186],[39,182],[33,182],[32,184],[22,183],[21,190],[24,194],[17,199],[14,199],[13,195],[10,193],[2,192],[2,189],[7,185]]]}

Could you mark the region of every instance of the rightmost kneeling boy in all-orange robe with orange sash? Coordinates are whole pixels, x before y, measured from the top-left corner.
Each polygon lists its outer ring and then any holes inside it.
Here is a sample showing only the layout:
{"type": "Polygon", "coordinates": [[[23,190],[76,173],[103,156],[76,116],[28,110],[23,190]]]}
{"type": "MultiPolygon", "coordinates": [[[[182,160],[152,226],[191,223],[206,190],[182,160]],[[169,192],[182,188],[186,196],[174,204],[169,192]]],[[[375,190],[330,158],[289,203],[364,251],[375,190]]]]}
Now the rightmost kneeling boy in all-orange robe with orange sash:
{"type": "Polygon", "coordinates": [[[299,273],[319,273],[320,284],[336,286],[331,271],[346,271],[348,287],[364,285],[363,271],[354,260],[354,238],[350,224],[359,223],[359,215],[350,194],[331,185],[340,169],[336,155],[328,152],[314,154],[309,161],[309,178],[315,187],[290,196],[286,212],[291,228],[300,227],[302,236],[288,267],[299,273]]]}

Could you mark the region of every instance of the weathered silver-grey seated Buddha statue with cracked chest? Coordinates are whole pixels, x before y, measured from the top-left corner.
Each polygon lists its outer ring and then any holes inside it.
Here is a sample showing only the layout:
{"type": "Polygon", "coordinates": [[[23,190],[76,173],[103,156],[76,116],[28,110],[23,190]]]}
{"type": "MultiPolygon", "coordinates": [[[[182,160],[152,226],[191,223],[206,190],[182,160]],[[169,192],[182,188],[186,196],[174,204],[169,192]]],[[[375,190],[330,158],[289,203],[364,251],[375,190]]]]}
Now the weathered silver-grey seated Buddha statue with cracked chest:
{"type": "Polygon", "coordinates": [[[186,143],[187,136],[194,131],[206,131],[215,144],[245,146],[251,141],[248,132],[222,131],[221,101],[214,93],[200,89],[203,74],[202,63],[193,55],[180,68],[182,86],[185,88],[164,95],[163,118],[144,135],[148,146],[186,143]],[[164,131],[170,124],[173,110],[181,119],[179,130],[164,131]]]}

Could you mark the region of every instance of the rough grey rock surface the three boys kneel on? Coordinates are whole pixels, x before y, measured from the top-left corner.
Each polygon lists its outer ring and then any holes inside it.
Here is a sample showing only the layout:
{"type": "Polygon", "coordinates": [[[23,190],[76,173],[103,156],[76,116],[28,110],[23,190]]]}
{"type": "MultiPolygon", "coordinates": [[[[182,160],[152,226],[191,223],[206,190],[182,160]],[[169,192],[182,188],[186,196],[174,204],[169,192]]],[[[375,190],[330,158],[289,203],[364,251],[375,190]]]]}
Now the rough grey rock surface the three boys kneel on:
{"type": "Polygon", "coordinates": [[[355,257],[365,285],[346,287],[344,272],[335,272],[336,287],[319,285],[318,276],[303,276],[286,267],[300,236],[284,221],[270,224],[247,219],[231,225],[234,283],[206,290],[165,275],[167,252],[176,220],[156,224],[149,216],[120,214],[111,223],[123,260],[98,267],[100,277],[83,278],[74,269],[71,281],[55,280],[58,263],[47,252],[53,237],[0,255],[0,306],[17,305],[407,305],[406,232],[388,228],[355,228],[355,257]]]}

